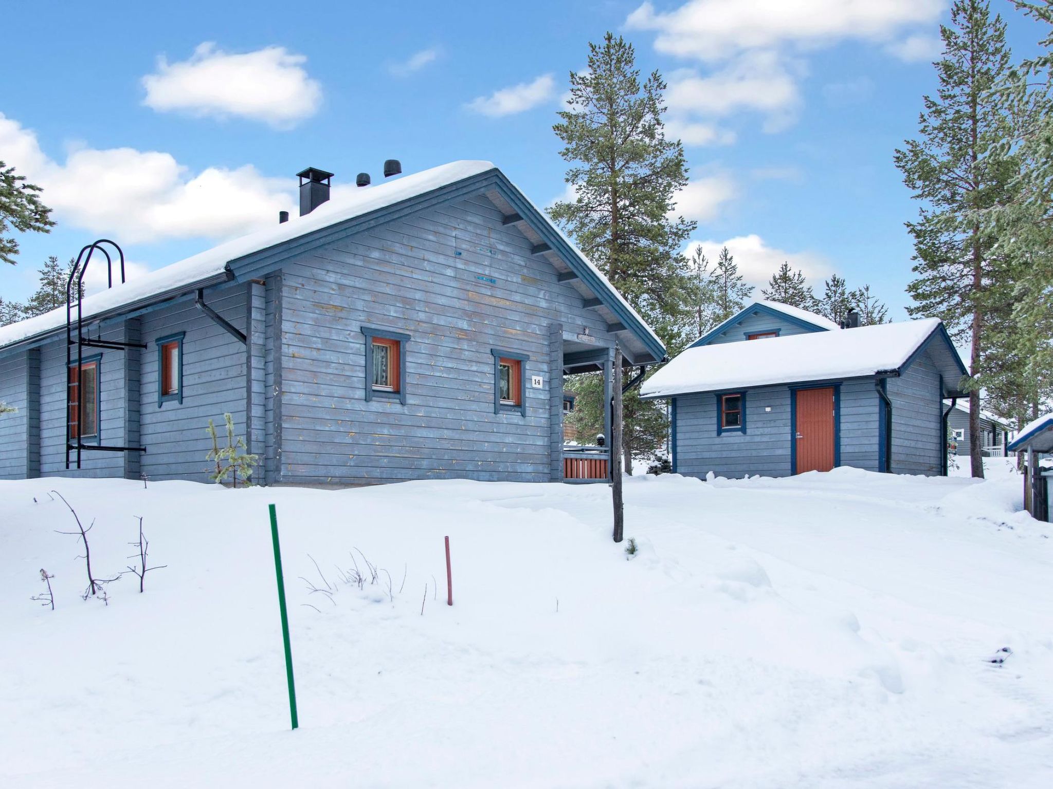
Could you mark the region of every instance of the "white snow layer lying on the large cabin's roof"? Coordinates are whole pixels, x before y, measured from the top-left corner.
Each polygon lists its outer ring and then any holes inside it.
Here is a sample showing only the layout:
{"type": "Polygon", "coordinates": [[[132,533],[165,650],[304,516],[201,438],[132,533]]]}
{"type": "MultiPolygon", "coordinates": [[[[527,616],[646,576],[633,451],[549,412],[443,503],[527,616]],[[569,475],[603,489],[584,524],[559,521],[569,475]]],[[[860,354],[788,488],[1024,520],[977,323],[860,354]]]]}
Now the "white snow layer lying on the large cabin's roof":
{"type": "MultiPolygon", "coordinates": [[[[199,283],[222,278],[227,263],[285,241],[304,236],[330,225],[338,224],[356,217],[364,216],[379,208],[395,205],[404,200],[424,195],[434,189],[462,181],[489,170],[497,169],[488,161],[457,161],[432,167],[420,173],[403,176],[393,181],[384,181],[375,186],[357,188],[345,195],[334,197],[303,217],[295,217],[287,222],[274,224],[270,227],[251,232],[247,236],[227,241],[194,255],[185,260],[158,268],[123,285],[116,285],[98,294],[85,297],[82,303],[83,317],[86,321],[96,316],[120,313],[121,308],[140,305],[144,300],[156,297],[160,301],[171,298],[174,294],[188,292],[199,283]]],[[[520,190],[521,193],[521,190],[520,190]]],[[[544,218],[542,211],[538,214],[544,218]]],[[[545,219],[545,221],[548,221],[545,219]]],[[[552,229],[559,228],[550,223],[552,229]]],[[[565,239],[565,236],[559,234],[565,239]]],[[[632,305],[617,291],[603,274],[567,240],[581,262],[591,272],[605,285],[620,305],[632,315],[643,331],[659,347],[661,341],[648,323],[633,309],[632,305]]],[[[98,263],[93,263],[98,265],[98,263]]],[[[597,296],[600,296],[597,294],[597,296]]],[[[65,307],[59,307],[51,312],[28,318],[7,326],[0,326],[0,348],[23,340],[32,340],[48,335],[65,326],[65,307]]]]}

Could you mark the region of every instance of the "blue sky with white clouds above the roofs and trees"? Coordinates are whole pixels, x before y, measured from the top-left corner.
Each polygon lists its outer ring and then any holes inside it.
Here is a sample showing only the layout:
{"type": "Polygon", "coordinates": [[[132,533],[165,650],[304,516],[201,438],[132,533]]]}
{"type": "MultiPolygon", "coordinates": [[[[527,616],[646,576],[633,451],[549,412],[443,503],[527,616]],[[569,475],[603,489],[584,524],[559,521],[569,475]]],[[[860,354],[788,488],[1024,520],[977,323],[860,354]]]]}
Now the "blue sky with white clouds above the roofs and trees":
{"type": "MultiPolygon", "coordinates": [[[[870,283],[906,317],[916,205],[892,164],[934,89],[947,0],[18,3],[4,12],[0,159],[59,225],[20,238],[0,296],[100,236],[132,276],[295,210],[307,165],[352,184],[489,159],[535,202],[564,191],[552,133],[568,73],[611,29],[670,83],[711,257],[754,281],[789,260],[870,283]]],[[[1009,2],[1018,56],[1039,31],[1009,2]]]]}

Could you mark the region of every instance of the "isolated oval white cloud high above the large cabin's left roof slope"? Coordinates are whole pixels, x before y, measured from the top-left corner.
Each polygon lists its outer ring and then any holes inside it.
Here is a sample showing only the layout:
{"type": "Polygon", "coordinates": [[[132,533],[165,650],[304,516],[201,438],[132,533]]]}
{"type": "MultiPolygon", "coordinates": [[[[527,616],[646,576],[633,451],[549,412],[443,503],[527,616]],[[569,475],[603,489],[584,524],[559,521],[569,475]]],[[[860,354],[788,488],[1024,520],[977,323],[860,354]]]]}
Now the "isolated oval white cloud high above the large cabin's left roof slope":
{"type": "Polygon", "coordinates": [[[321,104],[321,85],[307,76],[304,62],[282,46],[233,54],[205,42],[188,60],[158,58],[157,73],[142,78],[142,103],[162,113],[239,116],[287,128],[321,104]]]}

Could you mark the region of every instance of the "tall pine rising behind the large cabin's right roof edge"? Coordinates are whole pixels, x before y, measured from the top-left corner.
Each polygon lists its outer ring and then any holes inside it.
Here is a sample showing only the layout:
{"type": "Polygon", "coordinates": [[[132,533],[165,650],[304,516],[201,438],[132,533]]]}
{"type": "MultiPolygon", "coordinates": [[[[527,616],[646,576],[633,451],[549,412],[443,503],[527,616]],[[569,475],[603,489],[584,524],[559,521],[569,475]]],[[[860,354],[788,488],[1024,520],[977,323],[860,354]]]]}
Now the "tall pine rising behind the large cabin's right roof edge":
{"type": "MultiPolygon", "coordinates": [[[[632,45],[611,33],[589,45],[588,68],[570,81],[568,108],[553,130],[575,197],[549,214],[677,352],[697,322],[695,279],[680,254],[695,223],[671,218],[688,168],[680,141],[665,138],[665,83],[657,72],[641,83],[632,45]]],[[[582,381],[569,388],[588,400],[599,387],[582,381]]],[[[664,413],[656,403],[638,401],[637,408],[632,397],[623,409],[621,449],[631,472],[633,437],[650,430],[663,438],[664,413]]]]}

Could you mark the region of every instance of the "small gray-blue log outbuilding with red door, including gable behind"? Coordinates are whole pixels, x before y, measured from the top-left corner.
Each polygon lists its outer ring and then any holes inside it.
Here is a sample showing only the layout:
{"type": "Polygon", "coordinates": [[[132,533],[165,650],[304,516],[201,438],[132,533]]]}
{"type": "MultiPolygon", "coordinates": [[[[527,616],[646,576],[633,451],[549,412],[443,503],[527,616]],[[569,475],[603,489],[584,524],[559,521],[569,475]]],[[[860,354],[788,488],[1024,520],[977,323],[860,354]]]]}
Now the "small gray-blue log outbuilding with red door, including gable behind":
{"type": "Polygon", "coordinates": [[[757,301],[641,389],[670,403],[675,471],[788,477],[854,466],[947,473],[945,398],[966,368],[936,319],[839,326],[757,301]]]}

